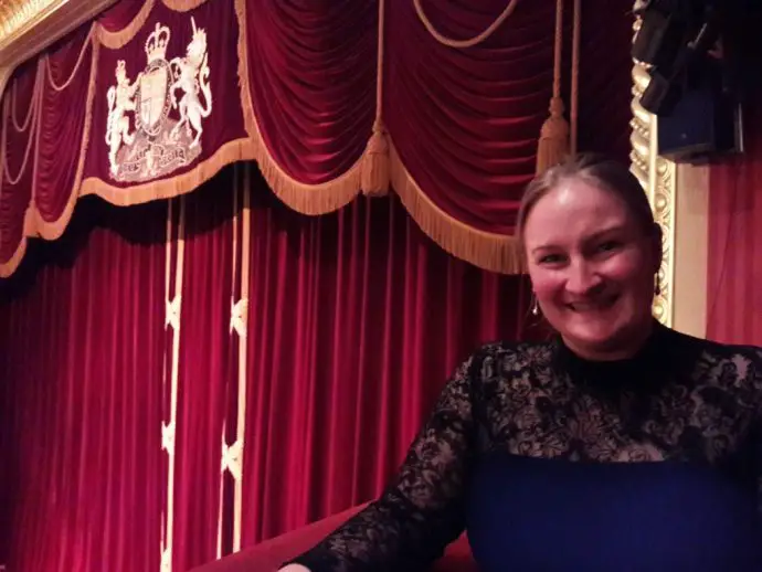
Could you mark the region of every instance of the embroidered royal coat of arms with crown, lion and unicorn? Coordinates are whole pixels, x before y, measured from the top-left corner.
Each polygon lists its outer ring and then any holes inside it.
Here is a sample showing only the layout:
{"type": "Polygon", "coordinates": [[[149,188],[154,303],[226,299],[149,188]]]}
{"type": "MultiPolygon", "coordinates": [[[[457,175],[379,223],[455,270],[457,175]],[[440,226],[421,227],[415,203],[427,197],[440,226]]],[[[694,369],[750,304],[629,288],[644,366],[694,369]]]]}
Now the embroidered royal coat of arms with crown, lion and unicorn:
{"type": "Polygon", "coordinates": [[[157,23],[146,40],[147,66],[135,82],[127,76],[125,62],[117,62],[116,85],[107,92],[106,127],[110,174],[117,181],[162,177],[201,153],[203,120],[212,113],[212,91],[207,32],[197,28],[193,18],[191,25],[193,39],[186,55],[168,61],[171,32],[157,23]]]}

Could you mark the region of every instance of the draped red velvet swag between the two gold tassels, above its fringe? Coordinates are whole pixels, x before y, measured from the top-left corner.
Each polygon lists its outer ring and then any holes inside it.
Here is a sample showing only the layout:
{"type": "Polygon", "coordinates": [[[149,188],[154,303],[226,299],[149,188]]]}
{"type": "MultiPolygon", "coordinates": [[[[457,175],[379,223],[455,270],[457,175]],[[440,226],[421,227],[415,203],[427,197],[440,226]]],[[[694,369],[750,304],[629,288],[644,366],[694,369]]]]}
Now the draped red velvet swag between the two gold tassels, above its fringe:
{"type": "MultiPolygon", "coordinates": [[[[413,179],[458,221],[510,233],[552,87],[555,2],[519,2],[506,23],[474,47],[441,44],[413,2],[388,2],[384,117],[413,179]]],[[[481,33],[506,8],[423,1],[451,39],[481,33]]]]}

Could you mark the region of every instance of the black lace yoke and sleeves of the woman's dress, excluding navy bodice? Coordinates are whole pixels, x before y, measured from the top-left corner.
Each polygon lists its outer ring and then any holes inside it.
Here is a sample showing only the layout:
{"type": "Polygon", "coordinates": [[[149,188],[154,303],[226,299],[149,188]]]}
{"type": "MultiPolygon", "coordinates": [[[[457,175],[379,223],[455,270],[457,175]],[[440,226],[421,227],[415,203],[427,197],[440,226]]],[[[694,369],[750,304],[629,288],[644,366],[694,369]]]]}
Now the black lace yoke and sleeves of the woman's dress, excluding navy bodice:
{"type": "MultiPolygon", "coordinates": [[[[633,359],[588,362],[559,340],[493,343],[444,388],[379,500],[296,562],[425,570],[464,530],[479,459],[695,462],[760,477],[762,350],[656,326],[633,359]]],[[[508,508],[510,510],[510,508],[508,508]]]]}

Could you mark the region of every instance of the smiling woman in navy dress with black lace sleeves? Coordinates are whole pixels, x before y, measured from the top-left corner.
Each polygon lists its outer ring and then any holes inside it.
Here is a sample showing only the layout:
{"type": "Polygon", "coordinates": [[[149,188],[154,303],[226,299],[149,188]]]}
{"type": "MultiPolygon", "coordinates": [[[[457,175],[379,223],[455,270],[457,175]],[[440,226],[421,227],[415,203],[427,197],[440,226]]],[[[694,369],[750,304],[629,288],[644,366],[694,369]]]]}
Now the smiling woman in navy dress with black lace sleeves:
{"type": "Polygon", "coordinates": [[[487,572],[762,570],[762,350],[653,319],[662,233],[616,162],[532,181],[518,235],[558,336],[474,353],[385,494],[283,570],[425,570],[464,528],[487,572]]]}

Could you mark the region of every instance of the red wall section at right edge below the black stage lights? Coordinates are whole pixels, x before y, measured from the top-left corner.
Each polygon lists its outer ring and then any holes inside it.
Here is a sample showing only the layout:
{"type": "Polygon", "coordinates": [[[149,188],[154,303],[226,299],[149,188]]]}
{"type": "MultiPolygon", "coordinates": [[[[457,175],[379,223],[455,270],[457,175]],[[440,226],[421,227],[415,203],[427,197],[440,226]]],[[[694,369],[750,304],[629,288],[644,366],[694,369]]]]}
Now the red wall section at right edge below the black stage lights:
{"type": "Polygon", "coordinates": [[[710,168],[707,337],[762,346],[762,89],[747,112],[745,152],[710,168]]]}

